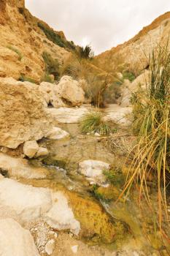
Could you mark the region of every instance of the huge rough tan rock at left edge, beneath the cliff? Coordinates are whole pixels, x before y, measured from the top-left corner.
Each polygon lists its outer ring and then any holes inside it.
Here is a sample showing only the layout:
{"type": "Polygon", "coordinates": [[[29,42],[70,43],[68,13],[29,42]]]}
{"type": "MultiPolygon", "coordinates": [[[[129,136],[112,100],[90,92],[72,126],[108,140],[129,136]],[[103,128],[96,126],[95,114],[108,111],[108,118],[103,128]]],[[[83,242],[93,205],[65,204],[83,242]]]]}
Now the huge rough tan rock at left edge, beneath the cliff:
{"type": "Polygon", "coordinates": [[[0,78],[0,146],[17,148],[39,140],[53,127],[53,118],[33,83],[0,78]]]}

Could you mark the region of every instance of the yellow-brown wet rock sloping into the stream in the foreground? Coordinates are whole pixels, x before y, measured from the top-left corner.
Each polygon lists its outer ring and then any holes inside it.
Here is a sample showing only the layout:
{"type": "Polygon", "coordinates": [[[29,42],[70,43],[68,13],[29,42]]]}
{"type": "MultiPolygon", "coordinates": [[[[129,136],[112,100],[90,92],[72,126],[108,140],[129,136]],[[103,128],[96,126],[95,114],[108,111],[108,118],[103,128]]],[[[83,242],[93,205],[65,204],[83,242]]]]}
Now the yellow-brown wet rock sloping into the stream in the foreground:
{"type": "Polygon", "coordinates": [[[93,242],[112,243],[123,239],[128,227],[125,223],[112,218],[96,200],[91,197],[82,197],[74,192],[66,192],[70,206],[80,222],[80,237],[93,242]]]}

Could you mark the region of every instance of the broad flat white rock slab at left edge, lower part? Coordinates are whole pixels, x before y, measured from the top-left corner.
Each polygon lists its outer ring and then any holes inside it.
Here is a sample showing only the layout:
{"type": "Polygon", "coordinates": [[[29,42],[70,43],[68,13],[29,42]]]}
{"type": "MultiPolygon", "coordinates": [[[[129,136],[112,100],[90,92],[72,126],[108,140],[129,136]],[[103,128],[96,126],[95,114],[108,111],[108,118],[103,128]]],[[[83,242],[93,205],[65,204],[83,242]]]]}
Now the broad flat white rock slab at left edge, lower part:
{"type": "Polygon", "coordinates": [[[0,205],[11,208],[23,222],[31,222],[50,210],[52,200],[49,189],[3,178],[0,180],[0,205]]]}

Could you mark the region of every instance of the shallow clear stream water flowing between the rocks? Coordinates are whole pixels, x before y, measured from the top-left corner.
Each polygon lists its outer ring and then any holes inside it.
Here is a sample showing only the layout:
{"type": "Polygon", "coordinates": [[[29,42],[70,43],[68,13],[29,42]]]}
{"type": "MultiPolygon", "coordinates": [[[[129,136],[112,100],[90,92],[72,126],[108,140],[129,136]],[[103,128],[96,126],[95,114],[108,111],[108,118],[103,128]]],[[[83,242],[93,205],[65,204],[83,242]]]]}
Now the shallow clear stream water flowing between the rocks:
{"type": "MultiPolygon", "coordinates": [[[[96,202],[85,177],[77,173],[78,163],[85,159],[96,159],[108,162],[114,166],[123,165],[123,159],[113,154],[105,146],[104,138],[94,135],[81,135],[77,124],[61,124],[60,127],[71,134],[71,138],[60,141],[43,140],[42,146],[47,146],[50,158],[58,161],[60,168],[53,165],[45,166],[50,176],[42,180],[24,181],[36,187],[50,187],[52,189],[67,189],[69,192],[77,192],[81,197],[89,198],[96,202]]],[[[33,164],[33,162],[31,162],[33,164]]],[[[34,165],[41,165],[39,160],[34,165]]],[[[118,187],[120,189],[120,187],[118,187]]],[[[121,189],[120,189],[121,191],[121,189]]],[[[114,201],[104,202],[98,200],[105,211],[113,218],[120,219],[130,227],[129,234],[123,239],[118,239],[114,244],[105,245],[109,249],[136,249],[139,255],[169,255],[159,240],[158,231],[152,230],[152,214],[149,214],[147,206],[140,211],[136,200],[137,195],[133,193],[126,203],[114,201]],[[155,253],[155,254],[154,254],[155,253]]],[[[100,244],[100,243],[99,243],[100,244]]]]}

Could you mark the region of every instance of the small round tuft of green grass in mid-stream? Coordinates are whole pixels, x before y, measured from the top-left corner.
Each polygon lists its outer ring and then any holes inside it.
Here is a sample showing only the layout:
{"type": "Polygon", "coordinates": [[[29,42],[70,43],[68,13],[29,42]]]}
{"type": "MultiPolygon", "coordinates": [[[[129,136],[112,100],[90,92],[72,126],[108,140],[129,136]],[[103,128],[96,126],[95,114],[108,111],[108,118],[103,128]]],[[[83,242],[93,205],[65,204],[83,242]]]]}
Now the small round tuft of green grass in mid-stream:
{"type": "Polygon", "coordinates": [[[104,121],[102,113],[98,110],[93,110],[83,116],[80,121],[80,128],[85,134],[98,132],[100,135],[109,135],[112,132],[109,123],[104,121]]]}

